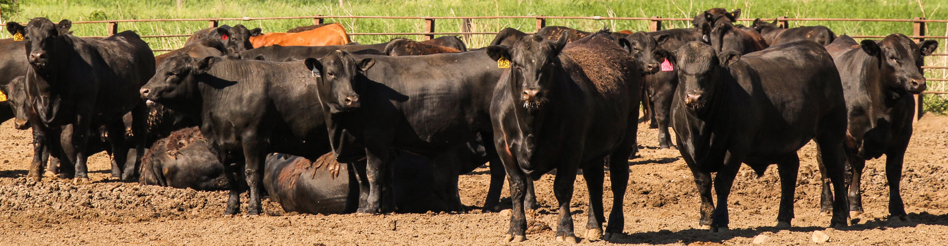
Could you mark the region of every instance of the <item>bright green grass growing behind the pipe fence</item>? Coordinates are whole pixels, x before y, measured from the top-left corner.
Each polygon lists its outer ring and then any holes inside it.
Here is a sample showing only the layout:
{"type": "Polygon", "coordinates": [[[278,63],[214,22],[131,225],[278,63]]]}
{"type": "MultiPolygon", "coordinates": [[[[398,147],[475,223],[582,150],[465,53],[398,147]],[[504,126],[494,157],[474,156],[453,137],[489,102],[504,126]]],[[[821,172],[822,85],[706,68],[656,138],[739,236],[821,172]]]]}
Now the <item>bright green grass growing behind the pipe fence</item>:
{"type": "MultiPolygon", "coordinates": [[[[939,0],[414,0],[378,1],[260,1],[260,0],[182,0],[177,9],[173,0],[27,0],[21,1],[19,12],[3,14],[3,21],[27,22],[30,18],[44,16],[53,21],[163,19],[163,18],[209,18],[209,17],[278,17],[322,15],[375,15],[375,16],[498,16],[498,15],[547,15],[547,16],[605,16],[605,17],[650,17],[691,18],[703,9],[722,7],[742,9],[742,18],[774,18],[788,16],[797,18],[883,18],[948,19],[948,1],[939,0]]],[[[2,4],[2,3],[0,3],[2,4]]],[[[7,11],[9,8],[5,8],[7,11]]],[[[340,23],[349,32],[421,32],[424,20],[398,19],[329,19],[340,23]]],[[[221,25],[243,24],[248,27],[263,27],[264,32],[280,32],[295,26],[311,25],[311,19],[224,21],[221,25]]],[[[749,25],[749,23],[744,23],[749,25]]],[[[503,27],[516,27],[523,31],[535,29],[534,19],[474,20],[472,31],[496,32],[503,27]]],[[[595,20],[548,20],[548,26],[571,26],[595,30],[603,26],[612,29],[646,30],[647,21],[595,21],[595,20]]],[[[829,26],[836,34],[888,35],[894,32],[911,35],[911,23],[877,22],[791,22],[791,26],[829,26]]],[[[203,27],[207,22],[148,22],[122,23],[119,30],[133,29],[142,35],[187,34],[203,27]]],[[[688,22],[665,22],[665,28],[687,27],[688,22]]],[[[80,36],[104,36],[105,24],[77,24],[74,33],[80,36]]],[[[436,21],[438,32],[461,31],[461,20],[436,21]]],[[[948,36],[945,24],[928,24],[928,34],[948,36]]],[[[353,41],[375,44],[391,40],[396,36],[353,36],[353,41]]],[[[421,39],[421,36],[406,36],[421,39]]],[[[6,31],[0,38],[9,38],[6,31]]],[[[471,35],[466,41],[470,47],[481,47],[489,43],[493,35],[471,35]]],[[[146,41],[154,49],[177,48],[186,38],[154,38],[146,41]]],[[[939,40],[937,53],[948,53],[948,41],[939,40]]],[[[930,57],[928,65],[948,66],[948,57],[930,57]]],[[[948,78],[946,69],[928,69],[928,78],[948,78]]],[[[944,81],[930,81],[929,90],[948,91],[944,81]]],[[[927,96],[926,108],[948,109],[948,97],[927,96]]]]}

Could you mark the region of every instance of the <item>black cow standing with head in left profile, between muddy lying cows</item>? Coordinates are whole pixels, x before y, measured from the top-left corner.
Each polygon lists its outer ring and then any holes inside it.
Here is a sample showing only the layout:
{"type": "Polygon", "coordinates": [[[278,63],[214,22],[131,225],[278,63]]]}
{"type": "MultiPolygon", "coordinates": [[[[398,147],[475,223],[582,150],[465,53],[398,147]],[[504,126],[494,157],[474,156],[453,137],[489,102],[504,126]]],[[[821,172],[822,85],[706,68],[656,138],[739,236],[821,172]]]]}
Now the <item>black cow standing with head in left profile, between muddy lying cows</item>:
{"type": "MultiPolygon", "coordinates": [[[[229,57],[194,59],[179,54],[162,62],[141,87],[141,97],[198,120],[201,133],[228,183],[243,169],[250,189],[247,214],[261,212],[261,182],[267,153],[316,159],[328,152],[315,84],[302,62],[264,62],[229,57]],[[236,163],[236,165],[229,165],[236,163]]],[[[231,186],[227,214],[240,212],[241,189],[231,186]]]]}

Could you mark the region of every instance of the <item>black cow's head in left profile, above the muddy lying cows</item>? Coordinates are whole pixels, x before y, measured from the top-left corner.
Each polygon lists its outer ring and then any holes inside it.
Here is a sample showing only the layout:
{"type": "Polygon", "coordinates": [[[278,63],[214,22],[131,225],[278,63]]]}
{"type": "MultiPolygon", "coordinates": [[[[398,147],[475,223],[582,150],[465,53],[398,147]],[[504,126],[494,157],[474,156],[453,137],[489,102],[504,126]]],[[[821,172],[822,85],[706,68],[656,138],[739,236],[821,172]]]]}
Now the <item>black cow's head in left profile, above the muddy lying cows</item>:
{"type": "Polygon", "coordinates": [[[149,104],[160,103],[174,111],[188,112],[197,102],[197,79],[206,76],[219,57],[191,58],[176,54],[158,65],[155,77],[138,91],[149,104]],[[191,107],[191,108],[189,108],[191,107]]]}

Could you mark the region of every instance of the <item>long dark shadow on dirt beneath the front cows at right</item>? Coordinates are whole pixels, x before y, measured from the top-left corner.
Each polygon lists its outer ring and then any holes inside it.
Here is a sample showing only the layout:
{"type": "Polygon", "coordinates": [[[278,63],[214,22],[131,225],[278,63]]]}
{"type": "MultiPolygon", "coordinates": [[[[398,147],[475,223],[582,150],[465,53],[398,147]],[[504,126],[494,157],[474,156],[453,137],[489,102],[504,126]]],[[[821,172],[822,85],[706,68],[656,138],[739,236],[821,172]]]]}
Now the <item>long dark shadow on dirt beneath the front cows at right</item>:
{"type": "MultiPolygon", "coordinates": [[[[910,213],[908,218],[912,221],[910,222],[900,222],[900,221],[891,221],[884,219],[873,219],[868,220],[863,223],[852,224],[846,228],[841,229],[840,231],[866,231],[874,229],[885,229],[885,228],[900,228],[900,227],[915,227],[920,224],[929,224],[929,225],[948,225],[948,214],[944,215],[933,215],[927,212],[921,213],[910,213]]],[[[623,243],[623,244],[671,244],[671,243],[684,243],[690,244],[692,242],[717,242],[723,243],[723,241],[732,239],[735,237],[757,237],[757,235],[763,233],[777,233],[783,230],[791,232],[803,232],[811,233],[813,231],[822,231],[826,230],[826,227],[822,226],[807,226],[807,227],[791,227],[791,228],[777,228],[775,226],[761,226],[757,228],[741,228],[741,229],[732,229],[722,233],[709,233],[704,229],[686,229],[682,231],[669,231],[669,230],[660,230],[653,232],[643,232],[643,233],[633,233],[624,235],[616,239],[611,239],[611,243],[623,243]]]]}

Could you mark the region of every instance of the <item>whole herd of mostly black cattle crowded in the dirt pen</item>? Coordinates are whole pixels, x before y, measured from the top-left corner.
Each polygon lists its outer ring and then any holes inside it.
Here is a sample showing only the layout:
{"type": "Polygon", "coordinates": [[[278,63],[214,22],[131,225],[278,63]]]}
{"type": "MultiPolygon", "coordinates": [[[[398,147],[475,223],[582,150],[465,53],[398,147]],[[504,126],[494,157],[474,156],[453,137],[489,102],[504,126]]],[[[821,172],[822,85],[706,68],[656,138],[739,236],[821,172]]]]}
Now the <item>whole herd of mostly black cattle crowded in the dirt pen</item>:
{"type": "Polygon", "coordinates": [[[938,43],[898,33],[857,43],[826,26],[741,26],[739,14],[709,9],[694,27],[654,32],[504,28],[473,50],[453,36],[350,43],[338,24],[220,26],[156,57],[133,31],[80,38],[68,20],[35,18],[8,23],[13,39],[0,40],[0,119],[32,129],[28,179],[87,184],[86,160],[104,150],[123,181],[228,189],[230,215],[244,191],[250,215],[264,196],[304,213],[463,211],[459,176],[489,163],[483,209],[498,209],[508,178],[505,240],[522,241],[525,210],[538,207],[533,181],[552,173],[556,238],[569,242],[579,241],[579,173],[585,237],[623,233],[628,160],[650,120],[694,174],[699,224],[712,232],[728,228],[741,164],[758,175],[777,165],[777,226],[789,227],[796,151],[811,140],[830,226],[863,211],[863,168],[883,154],[889,213],[908,220],[899,183],[912,95],[938,43]]]}

